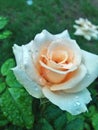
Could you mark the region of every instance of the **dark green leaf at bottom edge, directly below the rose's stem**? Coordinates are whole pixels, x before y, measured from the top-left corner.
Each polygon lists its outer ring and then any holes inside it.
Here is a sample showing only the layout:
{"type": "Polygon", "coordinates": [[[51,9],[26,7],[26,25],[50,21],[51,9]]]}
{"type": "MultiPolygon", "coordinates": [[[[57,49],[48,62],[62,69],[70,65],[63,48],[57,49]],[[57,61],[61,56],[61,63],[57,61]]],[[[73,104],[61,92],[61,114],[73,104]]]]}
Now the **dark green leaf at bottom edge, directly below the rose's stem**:
{"type": "Polygon", "coordinates": [[[36,130],[54,130],[52,125],[45,119],[41,118],[38,122],[38,125],[35,128],[36,130]]]}

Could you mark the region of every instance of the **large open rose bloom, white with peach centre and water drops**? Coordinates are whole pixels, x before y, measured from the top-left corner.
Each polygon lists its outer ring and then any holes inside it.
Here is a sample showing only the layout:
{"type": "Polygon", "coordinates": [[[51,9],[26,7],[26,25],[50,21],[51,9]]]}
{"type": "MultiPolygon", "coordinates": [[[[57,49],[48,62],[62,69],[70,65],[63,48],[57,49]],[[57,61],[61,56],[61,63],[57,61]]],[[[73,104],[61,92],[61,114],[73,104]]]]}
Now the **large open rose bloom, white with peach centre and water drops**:
{"type": "Polygon", "coordinates": [[[87,87],[98,76],[98,56],[81,50],[67,30],[56,35],[43,30],[27,45],[14,45],[13,52],[13,72],[30,95],[46,97],[72,115],[87,111],[87,87]]]}

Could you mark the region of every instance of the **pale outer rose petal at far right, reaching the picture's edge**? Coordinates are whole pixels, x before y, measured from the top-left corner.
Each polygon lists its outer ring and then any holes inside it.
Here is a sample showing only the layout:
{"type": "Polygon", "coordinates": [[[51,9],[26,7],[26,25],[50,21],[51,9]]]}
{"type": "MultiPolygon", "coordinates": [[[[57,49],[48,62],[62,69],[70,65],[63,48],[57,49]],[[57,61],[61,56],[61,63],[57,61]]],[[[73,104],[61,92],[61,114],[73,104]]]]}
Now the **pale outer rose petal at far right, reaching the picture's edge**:
{"type": "Polygon", "coordinates": [[[66,90],[67,92],[78,92],[88,87],[98,77],[98,55],[82,50],[83,63],[86,66],[87,74],[75,88],[66,90]]]}

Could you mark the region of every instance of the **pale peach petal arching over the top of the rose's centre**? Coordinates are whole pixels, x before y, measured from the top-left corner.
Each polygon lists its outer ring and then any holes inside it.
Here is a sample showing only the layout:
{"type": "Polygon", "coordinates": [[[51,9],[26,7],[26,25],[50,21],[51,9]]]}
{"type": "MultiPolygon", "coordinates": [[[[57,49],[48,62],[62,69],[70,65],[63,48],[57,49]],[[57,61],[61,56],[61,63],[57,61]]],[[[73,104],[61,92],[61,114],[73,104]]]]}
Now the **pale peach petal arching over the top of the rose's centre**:
{"type": "Polygon", "coordinates": [[[67,61],[72,62],[75,66],[79,65],[81,62],[81,50],[75,40],[71,39],[58,39],[53,42],[48,47],[47,57],[52,58],[52,54],[56,51],[65,51],[68,54],[67,61]]]}

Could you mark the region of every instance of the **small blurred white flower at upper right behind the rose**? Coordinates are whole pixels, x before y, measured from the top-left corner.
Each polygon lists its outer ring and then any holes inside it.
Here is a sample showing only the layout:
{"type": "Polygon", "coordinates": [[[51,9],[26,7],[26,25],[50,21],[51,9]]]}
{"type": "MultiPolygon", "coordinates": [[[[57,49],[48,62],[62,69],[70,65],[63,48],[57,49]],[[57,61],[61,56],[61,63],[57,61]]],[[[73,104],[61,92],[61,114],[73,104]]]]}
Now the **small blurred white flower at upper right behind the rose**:
{"type": "Polygon", "coordinates": [[[83,36],[87,40],[98,39],[98,26],[92,24],[88,19],[79,18],[75,20],[77,25],[73,27],[76,29],[75,35],[83,36]]]}

